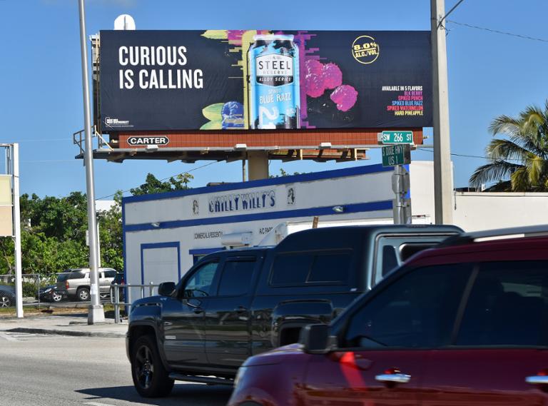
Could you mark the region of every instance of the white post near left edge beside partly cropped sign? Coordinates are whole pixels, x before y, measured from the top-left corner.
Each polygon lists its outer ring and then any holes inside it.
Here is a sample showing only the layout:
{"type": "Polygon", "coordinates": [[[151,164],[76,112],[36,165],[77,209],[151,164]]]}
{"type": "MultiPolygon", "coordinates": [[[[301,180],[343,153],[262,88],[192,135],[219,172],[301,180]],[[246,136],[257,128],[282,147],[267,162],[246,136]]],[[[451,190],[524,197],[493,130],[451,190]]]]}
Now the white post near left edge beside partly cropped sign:
{"type": "Polygon", "coordinates": [[[21,210],[19,210],[19,144],[14,143],[14,238],[15,238],[15,297],[17,318],[23,318],[23,282],[21,280],[21,210]]]}

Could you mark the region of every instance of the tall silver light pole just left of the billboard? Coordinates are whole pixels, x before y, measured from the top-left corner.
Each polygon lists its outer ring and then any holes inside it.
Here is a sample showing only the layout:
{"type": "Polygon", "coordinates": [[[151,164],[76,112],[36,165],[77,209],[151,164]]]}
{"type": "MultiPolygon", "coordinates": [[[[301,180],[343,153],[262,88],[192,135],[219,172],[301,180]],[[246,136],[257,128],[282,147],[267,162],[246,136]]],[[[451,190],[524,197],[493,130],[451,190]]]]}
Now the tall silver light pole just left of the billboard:
{"type": "Polygon", "coordinates": [[[99,275],[97,255],[97,218],[95,213],[95,184],[93,178],[93,143],[91,142],[91,108],[89,102],[88,49],[86,46],[86,11],[84,0],[78,0],[80,11],[80,48],[82,56],[83,121],[86,134],[86,193],[88,196],[89,274],[91,304],[88,308],[88,324],[105,321],[103,305],[99,300],[99,275]]]}

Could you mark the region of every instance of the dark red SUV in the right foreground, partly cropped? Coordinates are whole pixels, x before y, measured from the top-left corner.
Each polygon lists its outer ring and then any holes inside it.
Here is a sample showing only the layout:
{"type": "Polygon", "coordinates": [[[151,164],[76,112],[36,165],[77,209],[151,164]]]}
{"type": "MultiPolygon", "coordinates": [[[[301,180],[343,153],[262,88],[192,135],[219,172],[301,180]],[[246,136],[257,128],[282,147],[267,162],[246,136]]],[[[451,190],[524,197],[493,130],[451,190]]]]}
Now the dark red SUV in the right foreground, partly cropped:
{"type": "Polygon", "coordinates": [[[229,405],[547,405],[548,228],[450,238],[301,341],[249,358],[229,405]]]}

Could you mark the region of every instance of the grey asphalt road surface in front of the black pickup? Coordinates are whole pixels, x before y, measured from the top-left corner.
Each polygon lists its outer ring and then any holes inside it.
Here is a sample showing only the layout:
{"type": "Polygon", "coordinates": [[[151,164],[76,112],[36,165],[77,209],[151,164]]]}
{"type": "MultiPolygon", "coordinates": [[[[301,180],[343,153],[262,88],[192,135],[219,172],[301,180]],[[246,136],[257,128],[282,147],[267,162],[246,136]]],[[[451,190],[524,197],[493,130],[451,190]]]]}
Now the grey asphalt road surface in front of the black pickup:
{"type": "Polygon", "coordinates": [[[230,388],[176,382],[171,396],[133,389],[121,338],[0,332],[0,406],[223,406],[230,388]]]}

